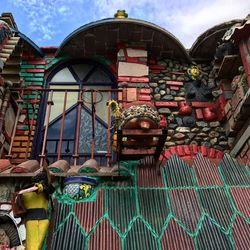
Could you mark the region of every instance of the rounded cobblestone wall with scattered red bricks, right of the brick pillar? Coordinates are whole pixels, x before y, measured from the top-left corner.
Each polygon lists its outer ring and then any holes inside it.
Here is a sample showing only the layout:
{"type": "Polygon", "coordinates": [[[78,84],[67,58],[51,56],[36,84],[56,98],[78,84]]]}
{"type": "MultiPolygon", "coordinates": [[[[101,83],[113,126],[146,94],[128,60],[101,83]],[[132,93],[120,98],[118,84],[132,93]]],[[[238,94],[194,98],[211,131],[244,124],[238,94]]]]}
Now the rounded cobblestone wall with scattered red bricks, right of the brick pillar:
{"type": "MultiPolygon", "coordinates": [[[[149,65],[152,99],[159,113],[166,115],[168,120],[168,137],[165,145],[171,147],[194,144],[222,151],[228,150],[222,117],[216,113],[216,118],[211,122],[204,118],[205,108],[210,106],[217,109],[219,99],[212,97],[210,102],[188,102],[192,111],[189,115],[180,114],[180,103],[187,101],[188,90],[185,85],[190,82],[187,75],[188,67],[190,65],[186,63],[168,59],[151,60],[149,65]]],[[[202,85],[212,94],[215,83],[210,65],[202,64],[198,67],[202,69],[202,85]]]]}

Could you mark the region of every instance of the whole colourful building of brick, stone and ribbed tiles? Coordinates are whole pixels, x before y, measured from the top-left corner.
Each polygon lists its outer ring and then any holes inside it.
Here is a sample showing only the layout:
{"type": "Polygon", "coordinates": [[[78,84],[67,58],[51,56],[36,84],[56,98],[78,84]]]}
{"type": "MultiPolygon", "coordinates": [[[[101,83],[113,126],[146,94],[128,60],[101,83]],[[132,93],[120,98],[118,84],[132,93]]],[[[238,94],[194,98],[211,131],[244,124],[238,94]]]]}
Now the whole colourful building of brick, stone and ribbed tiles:
{"type": "Polygon", "coordinates": [[[3,13],[0,95],[6,249],[39,249],[11,200],[42,169],[42,249],[249,249],[249,16],[187,50],[124,11],[39,47],[3,13]]]}

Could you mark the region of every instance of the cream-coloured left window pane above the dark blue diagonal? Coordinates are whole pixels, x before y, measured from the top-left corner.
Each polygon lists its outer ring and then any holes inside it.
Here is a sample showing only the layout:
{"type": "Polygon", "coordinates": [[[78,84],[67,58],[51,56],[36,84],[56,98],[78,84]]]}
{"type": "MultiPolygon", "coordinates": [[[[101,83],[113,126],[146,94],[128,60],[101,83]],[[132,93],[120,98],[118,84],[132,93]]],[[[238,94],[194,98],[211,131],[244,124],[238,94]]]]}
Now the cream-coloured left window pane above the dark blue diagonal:
{"type": "MultiPolygon", "coordinates": [[[[79,89],[78,85],[50,85],[50,89],[79,89]]],[[[51,108],[51,114],[49,121],[51,122],[56,117],[62,114],[63,112],[63,103],[64,103],[64,95],[65,92],[56,92],[53,91],[53,102],[54,105],[51,108]]],[[[78,100],[78,92],[70,92],[67,93],[67,103],[66,103],[66,110],[76,104],[78,100]]]]}

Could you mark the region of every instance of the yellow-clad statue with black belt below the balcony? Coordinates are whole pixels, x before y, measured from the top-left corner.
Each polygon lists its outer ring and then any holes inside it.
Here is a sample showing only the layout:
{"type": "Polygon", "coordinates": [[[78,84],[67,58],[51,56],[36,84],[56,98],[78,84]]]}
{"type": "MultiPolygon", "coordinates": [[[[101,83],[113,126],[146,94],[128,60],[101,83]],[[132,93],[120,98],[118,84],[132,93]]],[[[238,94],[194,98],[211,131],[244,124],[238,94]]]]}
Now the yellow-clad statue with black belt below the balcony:
{"type": "Polygon", "coordinates": [[[48,170],[32,177],[32,184],[17,193],[16,205],[25,210],[26,249],[40,250],[48,227],[48,205],[54,191],[48,170]]]}

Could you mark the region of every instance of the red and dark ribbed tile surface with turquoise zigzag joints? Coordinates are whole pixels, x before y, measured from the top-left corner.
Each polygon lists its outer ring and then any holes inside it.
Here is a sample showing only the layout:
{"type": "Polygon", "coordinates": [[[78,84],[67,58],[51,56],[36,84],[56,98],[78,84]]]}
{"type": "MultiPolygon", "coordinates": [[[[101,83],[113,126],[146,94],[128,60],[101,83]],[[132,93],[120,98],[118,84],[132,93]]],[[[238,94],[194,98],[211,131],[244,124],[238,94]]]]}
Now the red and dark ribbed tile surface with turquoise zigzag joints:
{"type": "Polygon", "coordinates": [[[93,201],[56,203],[48,249],[249,249],[250,171],[229,155],[192,167],[172,156],[161,173],[133,167],[93,201]]]}

